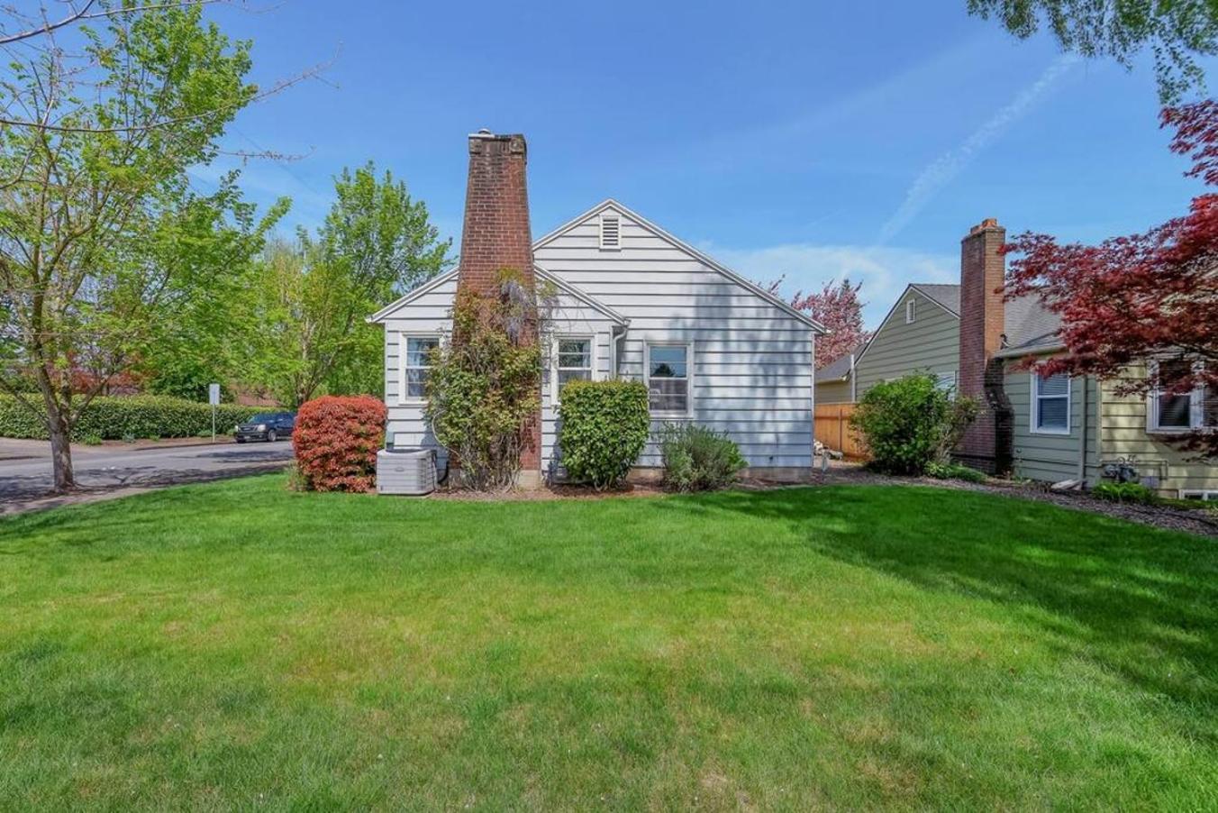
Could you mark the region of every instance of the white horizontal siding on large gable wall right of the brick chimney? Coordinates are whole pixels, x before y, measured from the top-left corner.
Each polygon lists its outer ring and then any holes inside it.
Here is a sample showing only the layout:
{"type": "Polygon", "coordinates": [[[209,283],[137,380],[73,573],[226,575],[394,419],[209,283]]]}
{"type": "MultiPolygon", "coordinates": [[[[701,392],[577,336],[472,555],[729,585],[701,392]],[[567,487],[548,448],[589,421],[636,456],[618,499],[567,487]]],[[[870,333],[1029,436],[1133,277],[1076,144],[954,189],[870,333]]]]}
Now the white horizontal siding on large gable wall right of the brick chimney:
{"type": "MultiPolygon", "coordinates": [[[[599,212],[535,250],[537,264],[630,319],[616,374],[643,379],[647,344],[691,344],[693,412],[727,431],[750,466],[812,464],[812,343],[805,323],[621,213],[602,251],[599,212]]],[[[653,421],[659,429],[663,421],[653,421]]],[[[659,466],[649,444],[639,466],[659,466]]]]}

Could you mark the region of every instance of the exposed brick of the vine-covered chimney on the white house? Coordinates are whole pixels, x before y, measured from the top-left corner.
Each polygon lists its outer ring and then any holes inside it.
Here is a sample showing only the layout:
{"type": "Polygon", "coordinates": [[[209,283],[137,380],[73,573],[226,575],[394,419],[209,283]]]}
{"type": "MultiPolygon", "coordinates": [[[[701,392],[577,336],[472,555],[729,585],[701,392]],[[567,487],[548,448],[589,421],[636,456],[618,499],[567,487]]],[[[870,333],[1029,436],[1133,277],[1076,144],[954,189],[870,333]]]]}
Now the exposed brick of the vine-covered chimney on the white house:
{"type": "MultiPolygon", "coordinates": [[[[458,290],[498,296],[498,275],[503,269],[516,272],[532,289],[526,154],[525,137],[520,134],[497,135],[479,130],[469,137],[469,182],[457,271],[458,290]]],[[[520,485],[529,488],[541,483],[540,411],[526,434],[520,455],[520,485]]]]}

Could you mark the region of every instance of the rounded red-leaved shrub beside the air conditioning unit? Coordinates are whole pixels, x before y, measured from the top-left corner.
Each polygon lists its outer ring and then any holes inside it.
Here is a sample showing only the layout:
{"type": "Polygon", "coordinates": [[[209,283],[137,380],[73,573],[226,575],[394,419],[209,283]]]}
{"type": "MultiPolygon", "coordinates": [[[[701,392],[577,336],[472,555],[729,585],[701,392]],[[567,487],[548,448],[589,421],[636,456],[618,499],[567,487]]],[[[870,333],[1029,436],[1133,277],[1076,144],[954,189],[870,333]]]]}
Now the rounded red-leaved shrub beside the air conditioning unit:
{"type": "Polygon", "coordinates": [[[371,491],[385,441],[385,405],[326,395],[301,405],[292,431],[296,468],[311,491],[371,491]]]}

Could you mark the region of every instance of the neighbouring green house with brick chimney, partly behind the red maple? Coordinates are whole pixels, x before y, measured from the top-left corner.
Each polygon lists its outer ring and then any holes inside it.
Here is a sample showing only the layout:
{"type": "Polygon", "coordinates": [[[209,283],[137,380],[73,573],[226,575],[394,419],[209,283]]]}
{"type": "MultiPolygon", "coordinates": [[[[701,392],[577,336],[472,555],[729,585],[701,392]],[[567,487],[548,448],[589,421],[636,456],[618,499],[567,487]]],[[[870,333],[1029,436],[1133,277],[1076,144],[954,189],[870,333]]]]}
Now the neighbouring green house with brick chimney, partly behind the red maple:
{"type": "Polygon", "coordinates": [[[1033,373],[1038,360],[1062,351],[1060,319],[1034,296],[1004,301],[1005,239],[996,221],[973,227],[961,243],[960,285],[906,288],[853,363],[817,373],[817,403],[842,392],[859,400],[878,382],[929,371],[982,403],[956,451],[971,466],[1086,486],[1128,466],[1163,496],[1218,501],[1218,466],[1170,442],[1218,429],[1218,392],[1121,396],[1119,382],[1033,373]]]}

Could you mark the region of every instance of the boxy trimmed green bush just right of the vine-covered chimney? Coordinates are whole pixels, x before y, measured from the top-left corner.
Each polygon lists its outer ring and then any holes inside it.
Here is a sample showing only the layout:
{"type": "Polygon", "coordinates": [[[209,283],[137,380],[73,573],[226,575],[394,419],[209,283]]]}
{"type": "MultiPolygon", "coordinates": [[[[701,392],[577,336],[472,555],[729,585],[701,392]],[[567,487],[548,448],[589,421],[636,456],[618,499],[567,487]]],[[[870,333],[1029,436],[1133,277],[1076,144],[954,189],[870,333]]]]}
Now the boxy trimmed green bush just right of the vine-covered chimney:
{"type": "Polygon", "coordinates": [[[566,473],[598,490],[619,485],[650,433],[642,382],[569,382],[558,406],[566,473]]]}

